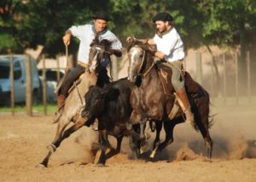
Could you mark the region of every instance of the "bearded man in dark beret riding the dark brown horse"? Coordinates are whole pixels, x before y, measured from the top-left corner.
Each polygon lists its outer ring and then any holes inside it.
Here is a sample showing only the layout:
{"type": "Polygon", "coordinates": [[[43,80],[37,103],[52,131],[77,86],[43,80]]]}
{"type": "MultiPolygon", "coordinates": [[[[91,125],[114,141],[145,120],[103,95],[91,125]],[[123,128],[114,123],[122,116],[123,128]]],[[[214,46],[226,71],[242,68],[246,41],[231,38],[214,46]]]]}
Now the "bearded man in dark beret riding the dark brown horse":
{"type": "Polygon", "coordinates": [[[186,116],[186,122],[193,123],[194,115],[190,110],[190,104],[186,90],[184,88],[184,80],[180,80],[183,68],[183,41],[173,26],[173,18],[171,14],[166,12],[154,15],[153,22],[156,26],[156,33],[153,38],[136,39],[135,37],[127,37],[127,43],[140,41],[148,44],[155,44],[157,51],[154,56],[165,60],[166,65],[172,68],[172,85],[176,91],[176,95],[181,101],[180,105],[186,116]]]}

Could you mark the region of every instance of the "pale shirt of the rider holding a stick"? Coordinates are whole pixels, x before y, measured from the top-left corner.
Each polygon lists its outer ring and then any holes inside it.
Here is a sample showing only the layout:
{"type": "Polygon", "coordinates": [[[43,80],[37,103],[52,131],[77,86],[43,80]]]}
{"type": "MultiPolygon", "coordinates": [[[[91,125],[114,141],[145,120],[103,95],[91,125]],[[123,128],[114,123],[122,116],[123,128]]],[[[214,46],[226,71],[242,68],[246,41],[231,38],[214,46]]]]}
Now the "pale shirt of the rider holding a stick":
{"type": "MultiPolygon", "coordinates": [[[[92,25],[86,24],[84,26],[72,26],[69,29],[74,37],[79,38],[79,55],[78,60],[83,63],[88,63],[90,53],[90,43],[95,38],[95,33],[92,31],[92,25]]],[[[111,48],[122,51],[122,43],[119,38],[116,37],[112,31],[106,31],[99,36],[100,41],[102,39],[108,39],[111,42],[111,48]]]]}

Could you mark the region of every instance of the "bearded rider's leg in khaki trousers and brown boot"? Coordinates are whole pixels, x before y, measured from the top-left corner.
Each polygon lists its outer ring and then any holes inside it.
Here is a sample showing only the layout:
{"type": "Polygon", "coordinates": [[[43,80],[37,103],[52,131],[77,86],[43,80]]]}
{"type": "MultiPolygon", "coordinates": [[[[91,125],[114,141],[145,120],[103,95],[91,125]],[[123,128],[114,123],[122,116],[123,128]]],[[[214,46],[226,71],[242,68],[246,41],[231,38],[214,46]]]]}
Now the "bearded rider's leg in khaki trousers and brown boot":
{"type": "Polygon", "coordinates": [[[188,123],[194,122],[194,115],[191,112],[191,106],[189,103],[188,95],[184,88],[184,79],[182,76],[182,65],[181,61],[175,61],[172,64],[172,85],[176,91],[177,98],[179,99],[179,103],[183,109],[183,112],[186,116],[186,121],[188,123]]]}

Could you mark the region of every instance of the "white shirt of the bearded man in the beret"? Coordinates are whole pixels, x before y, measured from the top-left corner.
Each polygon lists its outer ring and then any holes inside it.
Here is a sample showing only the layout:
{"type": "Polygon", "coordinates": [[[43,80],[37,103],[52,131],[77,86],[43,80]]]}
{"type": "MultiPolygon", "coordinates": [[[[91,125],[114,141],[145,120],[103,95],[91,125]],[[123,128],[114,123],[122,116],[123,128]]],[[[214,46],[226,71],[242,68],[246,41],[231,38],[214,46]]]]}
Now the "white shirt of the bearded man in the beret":
{"type": "Polygon", "coordinates": [[[166,55],[165,60],[172,62],[184,58],[183,41],[174,27],[162,37],[155,34],[153,39],[157,50],[166,55]]]}

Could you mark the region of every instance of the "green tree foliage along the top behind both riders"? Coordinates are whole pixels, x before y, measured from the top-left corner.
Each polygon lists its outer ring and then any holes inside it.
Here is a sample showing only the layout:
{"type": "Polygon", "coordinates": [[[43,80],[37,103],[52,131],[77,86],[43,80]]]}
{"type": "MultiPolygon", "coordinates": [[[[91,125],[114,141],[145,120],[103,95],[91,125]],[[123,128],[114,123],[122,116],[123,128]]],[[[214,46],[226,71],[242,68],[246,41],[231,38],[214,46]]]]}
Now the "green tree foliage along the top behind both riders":
{"type": "MultiPolygon", "coordinates": [[[[255,46],[254,0],[1,0],[0,53],[44,46],[49,56],[63,53],[61,37],[73,25],[90,22],[98,9],[111,17],[109,29],[125,37],[153,37],[152,16],[172,14],[186,48],[241,45],[241,54],[255,46]]],[[[77,51],[77,42],[70,51],[77,51]]]]}

